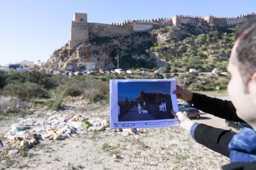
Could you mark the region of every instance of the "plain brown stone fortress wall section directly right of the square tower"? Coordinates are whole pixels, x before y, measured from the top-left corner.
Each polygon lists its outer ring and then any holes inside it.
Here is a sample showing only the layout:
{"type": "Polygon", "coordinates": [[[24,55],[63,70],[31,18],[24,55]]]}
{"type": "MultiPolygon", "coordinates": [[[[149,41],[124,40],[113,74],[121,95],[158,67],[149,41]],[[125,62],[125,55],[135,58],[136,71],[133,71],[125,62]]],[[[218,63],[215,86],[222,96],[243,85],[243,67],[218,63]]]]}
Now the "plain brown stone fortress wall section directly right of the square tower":
{"type": "Polygon", "coordinates": [[[129,35],[133,33],[132,26],[129,25],[110,25],[99,23],[88,23],[89,39],[93,36],[105,37],[116,35],[129,35]]]}

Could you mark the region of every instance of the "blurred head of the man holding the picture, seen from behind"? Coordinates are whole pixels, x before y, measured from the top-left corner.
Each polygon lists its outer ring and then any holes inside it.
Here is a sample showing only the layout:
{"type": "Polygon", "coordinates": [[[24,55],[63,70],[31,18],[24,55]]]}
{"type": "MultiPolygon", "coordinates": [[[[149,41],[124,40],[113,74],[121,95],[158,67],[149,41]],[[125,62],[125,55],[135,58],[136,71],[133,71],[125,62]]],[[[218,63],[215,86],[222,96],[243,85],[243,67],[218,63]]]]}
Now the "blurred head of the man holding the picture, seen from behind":
{"type": "Polygon", "coordinates": [[[228,63],[228,95],[239,118],[256,129],[256,18],[242,24],[228,63]]]}

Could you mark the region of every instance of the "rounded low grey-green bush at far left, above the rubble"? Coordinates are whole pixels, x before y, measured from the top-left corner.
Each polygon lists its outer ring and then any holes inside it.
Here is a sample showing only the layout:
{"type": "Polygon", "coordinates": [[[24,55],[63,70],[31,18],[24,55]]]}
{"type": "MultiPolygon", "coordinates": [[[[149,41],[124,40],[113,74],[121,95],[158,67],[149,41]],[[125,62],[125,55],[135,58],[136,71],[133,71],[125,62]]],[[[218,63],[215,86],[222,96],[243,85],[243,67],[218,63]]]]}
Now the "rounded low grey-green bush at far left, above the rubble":
{"type": "Polygon", "coordinates": [[[30,100],[46,96],[46,90],[41,86],[31,82],[7,84],[3,90],[4,95],[16,96],[21,100],[30,100]]]}

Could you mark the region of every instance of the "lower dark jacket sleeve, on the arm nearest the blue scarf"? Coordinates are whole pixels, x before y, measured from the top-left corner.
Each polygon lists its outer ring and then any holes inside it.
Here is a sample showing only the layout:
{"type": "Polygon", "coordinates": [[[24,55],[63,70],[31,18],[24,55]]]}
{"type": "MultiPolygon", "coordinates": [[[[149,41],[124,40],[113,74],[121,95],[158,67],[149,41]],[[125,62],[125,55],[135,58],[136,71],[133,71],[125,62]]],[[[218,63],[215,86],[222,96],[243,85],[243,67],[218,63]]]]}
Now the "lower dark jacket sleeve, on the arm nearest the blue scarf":
{"type": "Polygon", "coordinates": [[[228,144],[234,135],[236,133],[206,124],[198,124],[194,131],[194,138],[198,143],[226,157],[230,155],[228,144]]]}

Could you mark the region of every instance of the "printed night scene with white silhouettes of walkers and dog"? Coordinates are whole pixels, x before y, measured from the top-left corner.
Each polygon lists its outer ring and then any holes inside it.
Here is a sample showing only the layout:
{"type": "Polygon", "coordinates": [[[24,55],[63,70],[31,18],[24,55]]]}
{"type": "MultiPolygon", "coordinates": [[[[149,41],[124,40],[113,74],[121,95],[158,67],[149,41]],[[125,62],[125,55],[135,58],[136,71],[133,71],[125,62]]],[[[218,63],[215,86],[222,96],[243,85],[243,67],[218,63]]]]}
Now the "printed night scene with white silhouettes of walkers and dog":
{"type": "Polygon", "coordinates": [[[118,82],[118,120],[173,119],[170,81],[118,82]]]}

